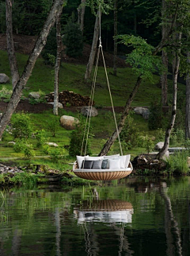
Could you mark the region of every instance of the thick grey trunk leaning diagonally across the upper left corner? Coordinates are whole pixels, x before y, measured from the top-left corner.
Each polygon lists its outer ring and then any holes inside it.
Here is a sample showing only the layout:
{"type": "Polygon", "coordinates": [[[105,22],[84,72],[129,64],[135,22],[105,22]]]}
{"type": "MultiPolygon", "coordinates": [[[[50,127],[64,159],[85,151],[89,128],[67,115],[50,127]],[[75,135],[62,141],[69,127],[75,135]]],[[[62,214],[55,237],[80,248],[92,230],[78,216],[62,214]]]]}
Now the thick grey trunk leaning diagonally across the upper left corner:
{"type": "Polygon", "coordinates": [[[22,90],[25,87],[25,84],[27,83],[29,76],[31,76],[34,64],[36,63],[38,56],[40,56],[40,52],[42,51],[42,49],[44,48],[44,45],[46,44],[47,36],[52,26],[55,24],[57,17],[62,12],[62,9],[63,9],[63,0],[56,0],[53,6],[51,7],[51,10],[47,17],[47,21],[45,21],[44,27],[40,32],[40,36],[36,41],[36,45],[34,46],[28,58],[27,64],[25,65],[25,70],[21,75],[21,79],[18,80],[16,86],[13,89],[13,94],[11,95],[11,98],[9,100],[9,104],[7,106],[6,112],[2,116],[2,119],[0,121],[0,138],[2,138],[2,134],[6,129],[6,125],[8,124],[13,112],[17,107],[17,104],[21,99],[22,90]]]}

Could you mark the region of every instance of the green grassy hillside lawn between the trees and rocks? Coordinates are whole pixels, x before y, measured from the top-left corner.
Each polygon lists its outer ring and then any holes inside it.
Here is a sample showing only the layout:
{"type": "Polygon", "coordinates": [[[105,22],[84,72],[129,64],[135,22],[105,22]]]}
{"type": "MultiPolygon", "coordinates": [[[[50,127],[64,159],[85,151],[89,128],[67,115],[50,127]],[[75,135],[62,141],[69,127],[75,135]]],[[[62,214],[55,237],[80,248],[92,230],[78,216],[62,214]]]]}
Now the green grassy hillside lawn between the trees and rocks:
{"type": "MultiPolygon", "coordinates": [[[[25,67],[25,63],[28,59],[28,56],[17,54],[17,61],[19,72],[23,71],[25,67]]],[[[5,51],[0,51],[0,68],[2,73],[6,73],[7,76],[10,77],[9,72],[9,62],[8,56],[5,51]]],[[[89,83],[84,83],[84,73],[86,71],[86,66],[79,64],[62,64],[60,69],[60,77],[59,77],[59,91],[68,90],[74,91],[75,93],[80,93],[81,95],[90,95],[91,86],[89,83]]],[[[116,107],[124,107],[128,96],[130,95],[132,88],[135,85],[136,76],[133,74],[131,68],[118,68],[117,73],[118,76],[112,76],[110,73],[112,72],[112,68],[108,68],[108,78],[112,91],[112,98],[114,102],[114,106],[116,107]]],[[[135,99],[132,103],[132,107],[144,106],[150,107],[150,104],[156,100],[161,100],[161,89],[158,88],[157,84],[159,82],[159,76],[154,76],[154,83],[150,83],[145,80],[142,82],[141,87],[139,88],[138,93],[135,95],[135,99]]],[[[6,84],[8,89],[11,89],[11,84],[6,84]]],[[[53,91],[54,87],[54,75],[53,75],[53,67],[47,66],[44,64],[44,60],[42,58],[36,61],[36,65],[32,71],[32,76],[29,78],[26,88],[23,91],[23,96],[28,97],[28,93],[30,91],[44,91],[45,94],[53,91]]],[[[169,91],[171,90],[172,82],[169,81],[169,91]]],[[[2,85],[0,85],[0,90],[2,85]]],[[[184,85],[179,84],[179,90],[184,91],[184,85]]],[[[171,95],[170,93],[170,95],[171,95]]],[[[105,79],[105,70],[102,67],[98,68],[97,72],[97,87],[94,95],[95,107],[98,107],[99,114],[97,117],[91,118],[92,124],[92,133],[94,134],[93,139],[91,139],[91,148],[92,153],[94,155],[100,153],[102,145],[104,145],[106,139],[112,134],[113,130],[115,130],[115,124],[112,117],[112,112],[105,111],[103,107],[111,106],[110,98],[108,95],[108,85],[105,79]]],[[[0,110],[1,112],[1,110],[0,110]]],[[[74,117],[79,116],[79,113],[73,113],[70,111],[60,110],[58,120],[63,114],[72,115],[74,117]]],[[[14,114],[12,120],[14,118],[14,114]]],[[[48,130],[48,123],[55,118],[52,114],[52,111],[45,111],[43,114],[30,114],[30,119],[32,122],[32,129],[35,132],[36,130],[45,130],[45,137],[48,138],[48,142],[55,142],[59,145],[59,147],[64,147],[69,145],[70,143],[70,134],[72,131],[63,129],[62,126],[58,125],[57,131],[55,133],[55,137],[52,136],[51,131],[48,130]]],[[[148,122],[142,118],[142,116],[137,114],[132,114],[132,118],[134,118],[135,126],[138,128],[139,132],[142,135],[156,134],[155,131],[150,131],[148,129],[148,122]]],[[[67,157],[63,160],[60,165],[59,163],[53,164],[51,159],[45,158],[44,160],[40,158],[32,158],[31,160],[23,159],[24,153],[15,153],[13,150],[13,145],[9,145],[8,142],[13,141],[13,136],[11,134],[6,134],[3,137],[2,142],[0,142],[0,161],[3,157],[19,157],[22,160],[20,162],[25,163],[46,163],[49,166],[57,166],[57,168],[63,168],[64,162],[66,161],[74,161],[74,159],[70,159],[67,157]]],[[[45,156],[46,154],[42,149],[36,147],[36,139],[30,138],[29,143],[32,143],[36,156],[45,156]]],[[[156,141],[155,141],[156,142],[156,141]]],[[[119,145],[116,142],[112,146],[112,153],[118,153],[119,145]]],[[[133,157],[138,155],[139,153],[145,152],[145,149],[142,148],[134,148],[131,150],[126,150],[124,153],[131,153],[133,157]]],[[[66,155],[68,153],[66,152],[66,155]]],[[[68,165],[65,165],[66,168],[69,168],[68,165]]],[[[65,167],[64,167],[65,168],[65,167]]]]}

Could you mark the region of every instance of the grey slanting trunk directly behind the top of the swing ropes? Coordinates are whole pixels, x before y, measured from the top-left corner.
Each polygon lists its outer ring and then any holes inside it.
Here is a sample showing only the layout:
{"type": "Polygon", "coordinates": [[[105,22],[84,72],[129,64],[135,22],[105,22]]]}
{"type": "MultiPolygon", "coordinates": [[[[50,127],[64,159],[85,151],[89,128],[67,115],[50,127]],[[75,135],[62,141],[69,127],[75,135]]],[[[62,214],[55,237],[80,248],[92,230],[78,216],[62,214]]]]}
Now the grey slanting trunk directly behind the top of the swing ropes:
{"type": "Polygon", "coordinates": [[[93,44],[92,44],[91,52],[89,55],[89,62],[86,67],[85,81],[90,79],[91,72],[93,70],[94,58],[95,58],[95,55],[97,52],[97,40],[98,40],[98,35],[99,35],[100,16],[101,16],[101,13],[98,10],[95,25],[94,25],[93,44]]]}

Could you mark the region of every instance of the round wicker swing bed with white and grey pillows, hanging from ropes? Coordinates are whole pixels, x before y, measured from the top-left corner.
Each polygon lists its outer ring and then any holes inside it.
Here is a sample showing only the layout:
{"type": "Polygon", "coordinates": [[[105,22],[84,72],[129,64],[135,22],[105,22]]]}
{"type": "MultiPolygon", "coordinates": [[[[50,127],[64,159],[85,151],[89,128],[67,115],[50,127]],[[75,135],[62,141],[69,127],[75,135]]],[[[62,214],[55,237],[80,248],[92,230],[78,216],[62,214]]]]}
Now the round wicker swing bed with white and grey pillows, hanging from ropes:
{"type": "Polygon", "coordinates": [[[104,53],[101,45],[101,10],[99,10],[99,21],[100,21],[100,38],[99,38],[100,44],[97,51],[97,60],[96,60],[96,66],[94,69],[93,85],[92,85],[91,94],[90,94],[88,114],[86,117],[86,126],[85,126],[84,135],[83,135],[81,156],[77,156],[77,161],[75,161],[73,165],[73,172],[75,175],[86,180],[118,180],[128,176],[132,172],[133,167],[130,161],[131,156],[123,155],[123,151],[120,143],[120,134],[119,134],[119,130],[116,123],[116,114],[113,107],[112,94],[111,94],[109,81],[108,81],[108,73],[105,66],[105,57],[104,57],[104,53]],[[89,124],[90,124],[90,118],[91,118],[91,111],[93,107],[93,95],[94,95],[95,85],[97,80],[97,67],[98,67],[100,52],[101,52],[102,60],[105,67],[105,76],[108,83],[108,91],[109,91],[110,100],[112,103],[113,118],[116,124],[116,131],[117,131],[118,141],[120,144],[121,155],[120,153],[118,153],[112,156],[89,157],[89,156],[86,156],[86,149],[87,149],[87,142],[89,137],[89,124]],[[82,156],[82,153],[84,153],[84,156],[82,156]]]}

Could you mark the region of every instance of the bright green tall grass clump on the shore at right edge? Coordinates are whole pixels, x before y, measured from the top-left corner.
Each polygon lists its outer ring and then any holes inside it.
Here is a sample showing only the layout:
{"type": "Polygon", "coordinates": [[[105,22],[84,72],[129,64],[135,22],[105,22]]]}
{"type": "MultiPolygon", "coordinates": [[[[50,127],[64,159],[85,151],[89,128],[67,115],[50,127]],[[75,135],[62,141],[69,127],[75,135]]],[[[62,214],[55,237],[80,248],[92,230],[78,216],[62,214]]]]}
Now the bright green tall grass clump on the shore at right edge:
{"type": "Polygon", "coordinates": [[[166,169],[169,173],[186,174],[188,173],[188,152],[182,151],[170,155],[166,159],[166,169]]]}

